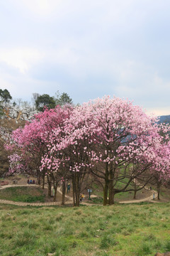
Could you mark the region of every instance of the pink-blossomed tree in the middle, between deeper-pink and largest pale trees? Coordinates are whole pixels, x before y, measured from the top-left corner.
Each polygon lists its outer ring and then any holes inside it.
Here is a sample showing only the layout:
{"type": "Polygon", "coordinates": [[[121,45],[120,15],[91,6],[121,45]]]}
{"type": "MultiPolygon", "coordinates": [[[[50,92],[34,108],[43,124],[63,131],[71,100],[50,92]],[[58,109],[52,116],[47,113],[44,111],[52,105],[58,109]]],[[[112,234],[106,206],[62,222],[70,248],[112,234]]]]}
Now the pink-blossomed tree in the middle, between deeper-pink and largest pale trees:
{"type": "Polygon", "coordinates": [[[47,169],[52,176],[61,176],[62,185],[72,178],[73,206],[79,206],[81,186],[89,169],[89,159],[85,150],[88,140],[77,138],[77,142],[74,143],[74,132],[78,127],[72,119],[72,112],[64,120],[63,126],[54,129],[50,138],[47,138],[48,152],[42,158],[42,169],[47,169]]]}

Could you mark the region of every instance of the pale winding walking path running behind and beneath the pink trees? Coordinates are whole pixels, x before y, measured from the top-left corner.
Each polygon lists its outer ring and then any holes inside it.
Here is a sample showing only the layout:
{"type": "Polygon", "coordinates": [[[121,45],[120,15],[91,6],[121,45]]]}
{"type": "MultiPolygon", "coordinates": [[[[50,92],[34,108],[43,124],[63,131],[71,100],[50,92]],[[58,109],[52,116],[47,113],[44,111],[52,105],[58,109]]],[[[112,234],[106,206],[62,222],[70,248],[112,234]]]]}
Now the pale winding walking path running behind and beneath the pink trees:
{"type": "MultiPolygon", "coordinates": [[[[0,187],[0,189],[4,189],[4,188],[10,188],[12,186],[29,186],[29,185],[5,185],[3,187],[0,187]]],[[[38,186],[39,185],[31,185],[31,186],[38,186]]],[[[62,194],[62,191],[60,190],[60,188],[57,188],[57,191],[59,193],[62,194]]],[[[134,200],[130,200],[130,201],[121,201],[119,203],[141,203],[141,202],[146,202],[146,201],[150,201],[152,203],[157,203],[157,201],[153,200],[153,194],[154,194],[154,198],[157,198],[157,191],[152,190],[152,196],[149,196],[147,198],[143,198],[143,199],[134,199],[134,200]]],[[[91,195],[94,196],[94,195],[91,195]]],[[[72,203],[72,197],[71,196],[65,196],[68,201],[66,201],[66,204],[70,204],[72,203]]],[[[3,200],[0,199],[0,203],[6,203],[6,204],[11,204],[14,206],[60,206],[61,202],[49,202],[49,203],[23,203],[23,202],[14,202],[14,201],[9,201],[9,200],[3,200]]],[[[86,206],[101,206],[99,204],[94,204],[94,203],[86,203],[86,202],[81,202],[81,204],[86,205],[86,206]]]]}

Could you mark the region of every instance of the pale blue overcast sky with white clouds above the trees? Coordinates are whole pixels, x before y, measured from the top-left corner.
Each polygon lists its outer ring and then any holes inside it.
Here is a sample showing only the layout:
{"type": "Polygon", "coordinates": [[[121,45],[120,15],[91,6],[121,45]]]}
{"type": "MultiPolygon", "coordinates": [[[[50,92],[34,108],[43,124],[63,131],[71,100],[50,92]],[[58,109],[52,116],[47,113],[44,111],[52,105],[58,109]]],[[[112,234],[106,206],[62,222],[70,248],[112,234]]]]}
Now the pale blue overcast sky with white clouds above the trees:
{"type": "Polygon", "coordinates": [[[169,0],[0,0],[0,88],[170,114],[169,0]]]}

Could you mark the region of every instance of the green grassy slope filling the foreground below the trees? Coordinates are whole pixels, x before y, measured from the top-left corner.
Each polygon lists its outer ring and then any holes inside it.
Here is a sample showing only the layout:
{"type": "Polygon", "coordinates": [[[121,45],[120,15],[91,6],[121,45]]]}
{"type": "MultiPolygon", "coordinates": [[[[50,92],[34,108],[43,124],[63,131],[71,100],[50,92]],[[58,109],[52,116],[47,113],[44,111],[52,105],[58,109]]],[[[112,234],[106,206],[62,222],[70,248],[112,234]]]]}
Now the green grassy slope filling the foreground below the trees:
{"type": "Polygon", "coordinates": [[[170,251],[170,203],[0,205],[1,256],[151,256],[170,251]]]}

